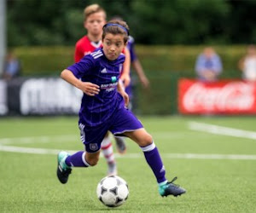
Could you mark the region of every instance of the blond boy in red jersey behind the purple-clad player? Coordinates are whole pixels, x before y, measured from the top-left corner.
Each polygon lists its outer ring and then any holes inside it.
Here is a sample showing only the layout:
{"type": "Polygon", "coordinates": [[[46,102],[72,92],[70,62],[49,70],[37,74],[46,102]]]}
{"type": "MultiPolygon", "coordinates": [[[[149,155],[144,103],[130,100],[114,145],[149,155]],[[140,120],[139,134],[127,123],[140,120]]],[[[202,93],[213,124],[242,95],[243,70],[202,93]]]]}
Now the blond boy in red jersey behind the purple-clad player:
{"type": "MultiPolygon", "coordinates": [[[[91,4],[84,9],[84,28],[87,30],[87,34],[80,38],[76,43],[74,55],[75,62],[79,62],[84,55],[88,55],[95,49],[102,46],[102,26],[106,24],[106,18],[106,11],[98,4],[91,4]]],[[[126,53],[129,54],[128,49],[126,50],[126,53]]],[[[130,82],[130,54],[124,63],[125,70],[122,78],[124,78],[123,80],[128,83],[130,82]],[[127,76],[129,79],[127,79],[127,76]]],[[[125,153],[126,146],[124,139],[115,137],[115,141],[118,152],[121,154],[125,153]]],[[[102,141],[102,153],[108,163],[108,175],[116,175],[117,165],[113,154],[111,138],[108,133],[102,141]]]]}

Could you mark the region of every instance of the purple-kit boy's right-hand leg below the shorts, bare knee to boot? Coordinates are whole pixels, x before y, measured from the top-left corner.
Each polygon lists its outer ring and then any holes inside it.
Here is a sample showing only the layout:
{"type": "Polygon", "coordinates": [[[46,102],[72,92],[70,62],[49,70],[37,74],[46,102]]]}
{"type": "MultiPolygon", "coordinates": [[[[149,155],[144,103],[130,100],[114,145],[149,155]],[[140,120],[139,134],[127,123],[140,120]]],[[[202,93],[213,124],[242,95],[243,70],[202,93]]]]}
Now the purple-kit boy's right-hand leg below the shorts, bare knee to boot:
{"type": "Polygon", "coordinates": [[[160,153],[154,144],[152,136],[144,129],[139,129],[131,132],[125,132],[124,135],[136,141],[143,150],[144,156],[148,165],[154,172],[154,176],[159,184],[159,193],[161,196],[174,195],[178,196],[186,192],[182,187],[178,187],[173,183],[177,179],[174,178],[171,182],[166,180],[165,166],[160,158],[160,153]]]}

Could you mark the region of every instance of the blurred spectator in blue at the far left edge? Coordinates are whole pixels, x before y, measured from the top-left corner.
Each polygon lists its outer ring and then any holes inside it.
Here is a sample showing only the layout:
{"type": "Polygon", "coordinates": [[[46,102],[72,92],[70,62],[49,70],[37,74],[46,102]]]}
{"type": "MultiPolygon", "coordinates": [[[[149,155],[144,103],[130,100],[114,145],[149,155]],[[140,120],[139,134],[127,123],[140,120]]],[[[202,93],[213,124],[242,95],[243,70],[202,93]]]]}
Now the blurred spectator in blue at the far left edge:
{"type": "Polygon", "coordinates": [[[3,79],[10,80],[20,76],[21,66],[20,60],[18,60],[13,52],[9,52],[6,55],[6,59],[3,66],[3,79]]]}

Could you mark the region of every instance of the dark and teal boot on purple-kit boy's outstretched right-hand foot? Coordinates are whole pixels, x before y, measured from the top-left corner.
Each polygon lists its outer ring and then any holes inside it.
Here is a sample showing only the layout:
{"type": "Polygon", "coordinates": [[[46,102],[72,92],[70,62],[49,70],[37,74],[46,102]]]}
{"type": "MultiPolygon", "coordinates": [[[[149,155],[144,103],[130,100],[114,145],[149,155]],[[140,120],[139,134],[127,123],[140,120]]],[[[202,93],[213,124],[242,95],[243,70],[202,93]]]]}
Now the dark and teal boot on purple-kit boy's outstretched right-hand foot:
{"type": "Polygon", "coordinates": [[[173,178],[171,182],[167,182],[165,185],[160,186],[158,188],[160,196],[167,197],[169,195],[173,195],[175,197],[186,193],[186,190],[182,187],[177,186],[173,183],[177,179],[177,176],[173,178]]]}

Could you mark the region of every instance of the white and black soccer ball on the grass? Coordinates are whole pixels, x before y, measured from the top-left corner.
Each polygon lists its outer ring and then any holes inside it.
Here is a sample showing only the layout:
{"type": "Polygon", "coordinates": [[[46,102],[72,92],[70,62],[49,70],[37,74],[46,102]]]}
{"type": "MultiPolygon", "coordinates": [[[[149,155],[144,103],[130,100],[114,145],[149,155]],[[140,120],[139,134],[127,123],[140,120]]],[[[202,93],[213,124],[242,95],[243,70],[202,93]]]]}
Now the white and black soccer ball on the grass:
{"type": "Polygon", "coordinates": [[[106,176],[98,183],[97,197],[108,207],[118,207],[128,199],[127,182],[119,176],[106,176]]]}

